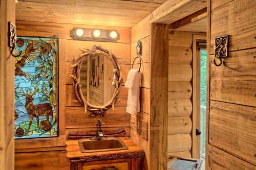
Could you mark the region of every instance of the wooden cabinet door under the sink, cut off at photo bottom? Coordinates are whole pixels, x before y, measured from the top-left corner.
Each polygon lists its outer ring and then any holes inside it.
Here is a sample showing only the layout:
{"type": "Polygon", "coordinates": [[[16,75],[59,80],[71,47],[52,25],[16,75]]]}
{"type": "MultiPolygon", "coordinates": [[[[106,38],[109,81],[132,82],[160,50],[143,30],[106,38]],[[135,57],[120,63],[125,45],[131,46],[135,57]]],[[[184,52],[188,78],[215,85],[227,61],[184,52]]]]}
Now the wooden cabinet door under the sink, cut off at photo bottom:
{"type": "Polygon", "coordinates": [[[83,170],[100,170],[104,167],[114,167],[118,170],[129,170],[128,162],[104,163],[104,164],[97,164],[97,165],[84,165],[82,169],[83,170]]]}

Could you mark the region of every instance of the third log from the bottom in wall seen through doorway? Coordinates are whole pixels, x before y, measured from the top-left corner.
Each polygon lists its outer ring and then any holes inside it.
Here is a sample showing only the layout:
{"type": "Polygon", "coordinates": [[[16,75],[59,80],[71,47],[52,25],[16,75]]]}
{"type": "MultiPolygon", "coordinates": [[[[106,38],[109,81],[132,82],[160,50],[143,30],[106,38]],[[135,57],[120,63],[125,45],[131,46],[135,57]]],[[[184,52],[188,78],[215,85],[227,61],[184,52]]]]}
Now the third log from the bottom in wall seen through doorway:
{"type": "Polygon", "coordinates": [[[192,102],[189,99],[168,100],[168,116],[190,116],[192,102]]]}

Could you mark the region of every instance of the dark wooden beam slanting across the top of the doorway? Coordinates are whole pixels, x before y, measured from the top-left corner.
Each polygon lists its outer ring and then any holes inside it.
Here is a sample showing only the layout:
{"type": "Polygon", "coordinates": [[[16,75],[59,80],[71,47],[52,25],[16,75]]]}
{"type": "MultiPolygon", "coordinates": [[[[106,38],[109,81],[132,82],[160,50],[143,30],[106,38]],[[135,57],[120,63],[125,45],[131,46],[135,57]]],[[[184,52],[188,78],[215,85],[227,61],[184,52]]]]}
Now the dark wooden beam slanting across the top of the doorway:
{"type": "Polygon", "coordinates": [[[206,12],[207,8],[203,8],[189,16],[186,16],[185,18],[182,18],[178,21],[175,21],[169,25],[170,30],[175,30],[177,28],[182,28],[183,26],[187,26],[191,23],[195,23],[201,19],[206,18],[206,12]]]}

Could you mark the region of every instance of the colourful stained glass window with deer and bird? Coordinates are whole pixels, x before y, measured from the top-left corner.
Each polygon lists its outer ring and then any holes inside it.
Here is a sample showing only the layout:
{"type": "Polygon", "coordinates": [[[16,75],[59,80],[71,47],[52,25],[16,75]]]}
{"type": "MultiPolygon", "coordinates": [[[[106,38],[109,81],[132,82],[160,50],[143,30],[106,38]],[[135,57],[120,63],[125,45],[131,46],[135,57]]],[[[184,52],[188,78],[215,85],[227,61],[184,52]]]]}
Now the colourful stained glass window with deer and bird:
{"type": "Polygon", "coordinates": [[[58,136],[58,39],[17,37],[15,139],[58,136]]]}

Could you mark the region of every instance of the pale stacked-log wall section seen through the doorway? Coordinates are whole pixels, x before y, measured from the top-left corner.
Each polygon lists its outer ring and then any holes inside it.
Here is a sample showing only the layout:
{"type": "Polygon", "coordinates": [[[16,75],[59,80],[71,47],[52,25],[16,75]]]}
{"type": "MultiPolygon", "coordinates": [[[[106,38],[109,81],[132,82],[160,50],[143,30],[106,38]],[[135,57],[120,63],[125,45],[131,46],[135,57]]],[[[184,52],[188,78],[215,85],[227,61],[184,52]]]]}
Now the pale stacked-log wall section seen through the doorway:
{"type": "Polygon", "coordinates": [[[192,32],[169,34],[168,155],[191,158],[192,32]]]}

